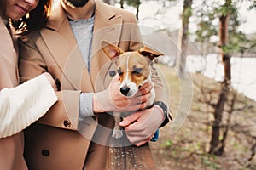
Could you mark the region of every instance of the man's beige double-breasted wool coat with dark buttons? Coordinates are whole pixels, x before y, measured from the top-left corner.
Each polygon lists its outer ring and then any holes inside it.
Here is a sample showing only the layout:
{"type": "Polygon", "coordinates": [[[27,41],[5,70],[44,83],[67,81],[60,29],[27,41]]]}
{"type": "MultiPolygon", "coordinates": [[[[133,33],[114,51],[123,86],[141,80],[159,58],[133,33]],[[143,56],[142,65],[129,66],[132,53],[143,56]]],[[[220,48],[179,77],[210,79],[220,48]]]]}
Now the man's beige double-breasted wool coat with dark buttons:
{"type": "MultiPolygon", "coordinates": [[[[84,64],[67,15],[57,6],[46,28],[34,31],[20,43],[22,81],[49,71],[61,82],[59,101],[26,129],[25,156],[28,167],[39,169],[105,169],[108,137],[113,117],[108,114],[79,122],[79,94],[108,88],[114,66],[101,49],[101,41],[124,51],[137,50],[142,39],[134,15],[96,0],[90,73],[84,64]],[[107,146],[105,146],[107,145],[107,146]]],[[[156,100],[168,105],[166,90],[153,73],[156,100]]]]}

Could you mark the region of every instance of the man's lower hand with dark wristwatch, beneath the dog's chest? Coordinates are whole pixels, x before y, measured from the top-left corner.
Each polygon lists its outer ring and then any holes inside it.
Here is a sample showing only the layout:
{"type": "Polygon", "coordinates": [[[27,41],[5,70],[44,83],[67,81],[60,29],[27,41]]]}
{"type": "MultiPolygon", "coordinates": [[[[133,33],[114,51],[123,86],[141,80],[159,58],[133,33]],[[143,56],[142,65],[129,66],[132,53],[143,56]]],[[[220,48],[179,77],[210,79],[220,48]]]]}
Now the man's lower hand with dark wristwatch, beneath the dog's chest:
{"type": "Polygon", "coordinates": [[[125,127],[125,133],[131,144],[137,146],[147,143],[160,127],[165,117],[158,105],[143,111],[137,111],[119,123],[125,127]]]}

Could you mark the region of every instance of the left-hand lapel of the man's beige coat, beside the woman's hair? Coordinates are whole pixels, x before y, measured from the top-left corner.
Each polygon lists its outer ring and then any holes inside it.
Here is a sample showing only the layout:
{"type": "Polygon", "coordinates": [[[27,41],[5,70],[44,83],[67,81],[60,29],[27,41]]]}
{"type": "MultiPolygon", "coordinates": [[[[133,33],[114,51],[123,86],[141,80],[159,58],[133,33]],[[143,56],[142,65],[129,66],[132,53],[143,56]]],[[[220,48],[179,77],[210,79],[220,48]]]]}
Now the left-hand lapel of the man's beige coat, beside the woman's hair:
{"type": "MultiPolygon", "coordinates": [[[[89,73],[61,3],[54,10],[55,15],[50,16],[47,28],[41,31],[44,42],[60,66],[62,78],[67,78],[77,90],[92,92],[89,73]]],[[[61,85],[65,89],[65,83],[61,85]]]]}

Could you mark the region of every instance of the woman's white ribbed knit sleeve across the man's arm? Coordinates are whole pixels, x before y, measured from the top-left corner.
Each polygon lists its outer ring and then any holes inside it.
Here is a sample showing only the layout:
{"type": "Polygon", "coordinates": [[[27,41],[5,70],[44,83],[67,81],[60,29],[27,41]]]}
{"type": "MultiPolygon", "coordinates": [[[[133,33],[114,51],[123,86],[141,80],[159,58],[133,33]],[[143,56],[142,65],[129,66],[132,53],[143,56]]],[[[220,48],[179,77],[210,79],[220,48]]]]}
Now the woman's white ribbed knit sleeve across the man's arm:
{"type": "Polygon", "coordinates": [[[57,97],[48,80],[38,76],[0,91],[0,138],[19,133],[44,116],[57,97]]]}

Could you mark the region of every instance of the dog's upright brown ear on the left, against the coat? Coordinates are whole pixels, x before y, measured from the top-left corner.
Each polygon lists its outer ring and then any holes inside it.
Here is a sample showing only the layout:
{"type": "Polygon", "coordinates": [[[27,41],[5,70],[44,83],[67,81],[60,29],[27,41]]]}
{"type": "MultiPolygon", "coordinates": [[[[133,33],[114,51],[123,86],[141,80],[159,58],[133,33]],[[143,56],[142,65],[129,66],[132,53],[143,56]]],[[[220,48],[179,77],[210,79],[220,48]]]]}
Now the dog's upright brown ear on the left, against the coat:
{"type": "Polygon", "coordinates": [[[109,42],[102,41],[102,50],[108,56],[109,59],[115,60],[120,54],[123,54],[123,50],[109,42]]]}

